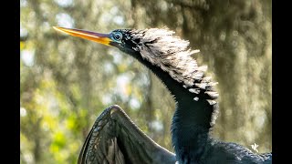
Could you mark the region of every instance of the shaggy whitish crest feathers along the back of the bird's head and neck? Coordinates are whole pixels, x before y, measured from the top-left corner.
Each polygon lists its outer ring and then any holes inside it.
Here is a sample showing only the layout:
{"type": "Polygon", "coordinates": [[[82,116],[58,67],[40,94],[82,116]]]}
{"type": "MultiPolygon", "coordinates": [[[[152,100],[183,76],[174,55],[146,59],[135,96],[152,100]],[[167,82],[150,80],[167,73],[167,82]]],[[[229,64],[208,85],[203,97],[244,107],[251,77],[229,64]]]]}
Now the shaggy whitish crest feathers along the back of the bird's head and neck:
{"type": "MultiPolygon", "coordinates": [[[[203,77],[207,67],[198,67],[191,56],[200,50],[187,48],[189,41],[173,34],[173,31],[159,28],[131,31],[132,39],[139,40],[135,50],[139,51],[144,59],[161,67],[173,79],[183,83],[183,87],[188,88],[190,92],[199,94],[201,90],[205,91],[209,96],[209,104],[216,104],[214,99],[219,95],[213,86],[217,83],[211,82],[211,77],[203,77]]],[[[198,98],[194,97],[194,100],[198,98]]]]}

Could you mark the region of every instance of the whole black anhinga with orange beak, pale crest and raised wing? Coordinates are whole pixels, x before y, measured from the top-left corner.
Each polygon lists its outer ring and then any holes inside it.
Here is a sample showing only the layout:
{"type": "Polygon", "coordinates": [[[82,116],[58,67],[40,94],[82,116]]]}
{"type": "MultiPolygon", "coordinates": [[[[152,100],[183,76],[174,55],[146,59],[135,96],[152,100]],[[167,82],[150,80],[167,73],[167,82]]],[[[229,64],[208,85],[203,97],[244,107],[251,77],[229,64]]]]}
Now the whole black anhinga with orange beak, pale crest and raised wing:
{"type": "Polygon", "coordinates": [[[211,136],[218,113],[214,82],[191,57],[188,41],[167,29],[118,29],[99,34],[54,27],[133,56],[162,80],[176,101],[172,118],[175,155],[138,128],[119,106],[107,108],[89,132],[78,163],[271,163],[272,153],[255,154],[245,147],[211,136]]]}

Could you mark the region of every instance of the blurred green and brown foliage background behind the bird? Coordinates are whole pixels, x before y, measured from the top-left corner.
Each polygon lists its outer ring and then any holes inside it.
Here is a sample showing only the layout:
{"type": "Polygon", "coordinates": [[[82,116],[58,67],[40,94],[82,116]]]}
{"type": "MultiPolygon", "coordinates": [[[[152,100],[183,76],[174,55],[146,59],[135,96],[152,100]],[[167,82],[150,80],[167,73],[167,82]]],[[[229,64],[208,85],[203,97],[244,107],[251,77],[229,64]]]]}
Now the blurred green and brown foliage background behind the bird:
{"type": "Polygon", "coordinates": [[[172,149],[174,101],[149,70],[117,48],[55,31],[168,27],[190,40],[218,81],[214,137],[272,149],[271,1],[20,0],[20,162],[76,163],[101,111],[118,104],[172,149]]]}

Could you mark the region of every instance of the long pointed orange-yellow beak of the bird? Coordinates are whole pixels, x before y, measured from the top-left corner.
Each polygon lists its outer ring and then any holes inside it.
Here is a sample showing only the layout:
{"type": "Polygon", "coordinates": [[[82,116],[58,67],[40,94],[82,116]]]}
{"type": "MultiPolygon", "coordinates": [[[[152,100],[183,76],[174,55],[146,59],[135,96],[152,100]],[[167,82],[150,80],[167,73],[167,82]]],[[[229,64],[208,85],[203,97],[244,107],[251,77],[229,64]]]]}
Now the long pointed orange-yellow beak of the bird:
{"type": "Polygon", "coordinates": [[[81,29],[64,28],[59,26],[53,26],[53,28],[68,35],[81,37],[107,46],[110,46],[110,42],[113,41],[110,39],[109,34],[100,34],[81,29]]]}

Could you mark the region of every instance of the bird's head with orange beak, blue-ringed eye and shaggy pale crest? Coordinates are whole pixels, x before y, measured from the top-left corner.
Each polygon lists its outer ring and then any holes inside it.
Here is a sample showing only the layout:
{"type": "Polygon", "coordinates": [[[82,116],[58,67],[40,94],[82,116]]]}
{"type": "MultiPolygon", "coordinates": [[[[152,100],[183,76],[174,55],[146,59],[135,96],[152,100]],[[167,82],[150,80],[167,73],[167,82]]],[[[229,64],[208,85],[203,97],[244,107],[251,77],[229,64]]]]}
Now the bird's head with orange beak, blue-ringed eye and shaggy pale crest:
{"type": "Polygon", "coordinates": [[[130,56],[141,57],[187,87],[193,86],[196,80],[203,77],[203,70],[197,67],[196,61],[191,57],[199,50],[187,49],[189,42],[173,36],[174,32],[168,29],[116,29],[109,34],[100,34],[81,29],[54,28],[71,36],[118,47],[130,56]]]}

